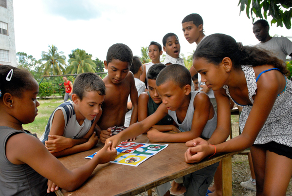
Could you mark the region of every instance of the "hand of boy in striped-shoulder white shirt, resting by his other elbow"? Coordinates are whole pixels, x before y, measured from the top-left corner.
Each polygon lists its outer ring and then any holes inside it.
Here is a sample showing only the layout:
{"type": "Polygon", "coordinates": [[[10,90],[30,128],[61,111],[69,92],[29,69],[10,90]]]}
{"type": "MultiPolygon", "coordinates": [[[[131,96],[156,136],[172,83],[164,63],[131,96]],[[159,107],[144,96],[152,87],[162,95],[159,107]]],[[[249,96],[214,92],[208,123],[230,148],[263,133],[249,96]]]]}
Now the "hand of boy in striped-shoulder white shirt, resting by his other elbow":
{"type": "Polygon", "coordinates": [[[50,151],[50,153],[56,153],[66,148],[73,147],[71,138],[55,135],[49,135],[48,137],[53,139],[45,141],[46,148],[50,151]]]}

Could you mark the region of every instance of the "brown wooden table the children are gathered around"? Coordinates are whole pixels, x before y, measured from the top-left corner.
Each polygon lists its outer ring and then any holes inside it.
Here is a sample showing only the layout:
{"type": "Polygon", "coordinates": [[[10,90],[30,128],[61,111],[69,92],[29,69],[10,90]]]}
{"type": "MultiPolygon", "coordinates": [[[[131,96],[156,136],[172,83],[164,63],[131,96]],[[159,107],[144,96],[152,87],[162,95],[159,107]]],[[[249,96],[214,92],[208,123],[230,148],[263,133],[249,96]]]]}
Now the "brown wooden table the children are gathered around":
{"type": "MultiPolygon", "coordinates": [[[[135,142],[147,143],[146,135],[137,137],[135,142]]],[[[152,143],[152,142],[151,142],[152,143]]],[[[159,143],[164,144],[164,143],[159,143]]],[[[232,196],[231,156],[239,152],[215,155],[200,163],[187,164],[184,153],[187,149],[184,143],[168,143],[168,147],[157,155],[150,157],[138,167],[106,163],[98,165],[89,179],[77,190],[59,192],[60,196],[134,196],[160,184],[190,174],[201,168],[222,160],[223,196],[232,196]]],[[[82,153],[61,157],[59,160],[66,168],[73,170],[84,165],[102,144],[82,153]]]]}

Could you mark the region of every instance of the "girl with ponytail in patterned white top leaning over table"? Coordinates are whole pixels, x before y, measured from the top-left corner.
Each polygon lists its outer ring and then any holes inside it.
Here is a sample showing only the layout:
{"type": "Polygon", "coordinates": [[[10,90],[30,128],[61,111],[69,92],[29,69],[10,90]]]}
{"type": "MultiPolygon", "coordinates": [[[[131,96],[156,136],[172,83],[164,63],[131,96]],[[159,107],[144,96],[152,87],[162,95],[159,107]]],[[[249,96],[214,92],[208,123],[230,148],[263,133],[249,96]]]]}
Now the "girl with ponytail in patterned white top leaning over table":
{"type": "Polygon", "coordinates": [[[186,142],[186,161],[251,147],[256,196],[285,196],[292,176],[292,82],[283,61],[230,36],[213,34],[197,47],[193,66],[214,91],[218,124],[208,141],[186,142]],[[230,133],[229,98],[243,106],[243,131],[225,141],[230,133]]]}

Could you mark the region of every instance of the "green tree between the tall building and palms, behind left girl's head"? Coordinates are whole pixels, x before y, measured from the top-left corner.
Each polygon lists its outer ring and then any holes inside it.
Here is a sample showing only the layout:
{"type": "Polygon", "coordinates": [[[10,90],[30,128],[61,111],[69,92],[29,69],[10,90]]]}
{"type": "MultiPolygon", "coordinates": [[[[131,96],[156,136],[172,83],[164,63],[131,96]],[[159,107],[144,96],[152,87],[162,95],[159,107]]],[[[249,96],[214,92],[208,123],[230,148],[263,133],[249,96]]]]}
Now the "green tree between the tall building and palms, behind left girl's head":
{"type": "Polygon", "coordinates": [[[42,63],[36,60],[32,55],[27,55],[24,52],[16,53],[17,67],[20,69],[28,70],[37,81],[40,81],[42,70],[40,69],[42,63]]]}

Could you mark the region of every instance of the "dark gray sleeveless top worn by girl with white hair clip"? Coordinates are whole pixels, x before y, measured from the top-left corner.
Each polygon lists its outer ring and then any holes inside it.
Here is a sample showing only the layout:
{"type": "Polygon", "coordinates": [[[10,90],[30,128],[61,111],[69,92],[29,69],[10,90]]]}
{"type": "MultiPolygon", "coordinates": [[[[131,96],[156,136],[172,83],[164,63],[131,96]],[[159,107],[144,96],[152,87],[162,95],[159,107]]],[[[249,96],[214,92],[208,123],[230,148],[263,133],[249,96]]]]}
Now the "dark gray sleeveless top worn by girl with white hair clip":
{"type": "Polygon", "coordinates": [[[0,195],[44,196],[48,188],[47,179],[29,165],[15,165],[6,157],[5,147],[8,138],[20,133],[26,132],[0,126],[0,195]]]}

